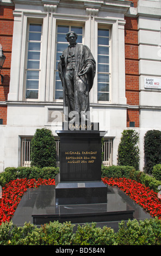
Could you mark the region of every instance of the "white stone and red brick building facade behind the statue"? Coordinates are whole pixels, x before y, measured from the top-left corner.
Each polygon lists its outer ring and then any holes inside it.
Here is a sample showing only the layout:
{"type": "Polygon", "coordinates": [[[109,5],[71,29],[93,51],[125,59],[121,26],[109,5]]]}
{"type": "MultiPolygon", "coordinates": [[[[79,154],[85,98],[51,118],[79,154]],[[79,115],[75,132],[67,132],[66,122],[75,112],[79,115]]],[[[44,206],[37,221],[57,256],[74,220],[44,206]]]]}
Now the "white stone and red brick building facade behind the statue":
{"type": "MultiPolygon", "coordinates": [[[[91,120],[104,136],[104,164],[117,164],[125,129],[144,136],[161,128],[160,0],[0,0],[0,44],[6,56],[0,84],[0,171],[29,166],[36,129],[61,130],[63,90],[57,64],[65,35],[78,34],[97,63],[91,120]]],[[[59,151],[59,150],[58,150],[59,151]]],[[[58,161],[59,161],[59,155],[58,161]]]]}

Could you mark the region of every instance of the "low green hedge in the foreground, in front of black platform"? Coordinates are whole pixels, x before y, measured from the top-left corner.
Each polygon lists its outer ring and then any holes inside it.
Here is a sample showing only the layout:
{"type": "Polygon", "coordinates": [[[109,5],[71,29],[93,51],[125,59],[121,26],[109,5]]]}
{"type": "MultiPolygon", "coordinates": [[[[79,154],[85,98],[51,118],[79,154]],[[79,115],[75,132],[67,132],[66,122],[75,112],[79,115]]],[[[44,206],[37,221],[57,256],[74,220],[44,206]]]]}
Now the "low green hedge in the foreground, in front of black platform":
{"type": "Polygon", "coordinates": [[[96,223],[73,228],[70,222],[58,221],[41,225],[31,223],[23,227],[5,222],[0,226],[0,245],[161,245],[161,221],[157,218],[144,221],[121,221],[117,232],[96,223]]]}

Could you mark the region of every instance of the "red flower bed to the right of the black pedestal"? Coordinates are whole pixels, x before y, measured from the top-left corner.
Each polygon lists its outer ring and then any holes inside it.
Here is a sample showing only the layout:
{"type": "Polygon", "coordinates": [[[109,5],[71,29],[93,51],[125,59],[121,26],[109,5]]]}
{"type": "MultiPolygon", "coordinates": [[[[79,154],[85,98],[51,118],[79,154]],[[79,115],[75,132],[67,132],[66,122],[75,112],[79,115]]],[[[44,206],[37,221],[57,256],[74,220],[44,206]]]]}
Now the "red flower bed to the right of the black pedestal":
{"type": "Polygon", "coordinates": [[[117,186],[153,217],[161,218],[161,200],[157,193],[135,180],[126,178],[104,178],[104,183],[117,186]]]}

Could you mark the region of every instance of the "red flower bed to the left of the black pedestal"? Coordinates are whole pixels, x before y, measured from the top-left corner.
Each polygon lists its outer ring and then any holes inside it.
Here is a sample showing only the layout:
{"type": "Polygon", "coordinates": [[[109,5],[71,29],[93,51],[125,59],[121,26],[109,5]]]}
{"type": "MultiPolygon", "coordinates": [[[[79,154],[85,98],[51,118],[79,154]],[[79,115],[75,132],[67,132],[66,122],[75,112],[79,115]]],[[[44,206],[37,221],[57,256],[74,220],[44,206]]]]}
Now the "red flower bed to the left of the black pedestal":
{"type": "Polygon", "coordinates": [[[27,188],[39,187],[40,185],[55,185],[55,180],[17,179],[6,184],[2,189],[2,199],[0,200],[0,225],[2,222],[11,220],[27,188]]]}

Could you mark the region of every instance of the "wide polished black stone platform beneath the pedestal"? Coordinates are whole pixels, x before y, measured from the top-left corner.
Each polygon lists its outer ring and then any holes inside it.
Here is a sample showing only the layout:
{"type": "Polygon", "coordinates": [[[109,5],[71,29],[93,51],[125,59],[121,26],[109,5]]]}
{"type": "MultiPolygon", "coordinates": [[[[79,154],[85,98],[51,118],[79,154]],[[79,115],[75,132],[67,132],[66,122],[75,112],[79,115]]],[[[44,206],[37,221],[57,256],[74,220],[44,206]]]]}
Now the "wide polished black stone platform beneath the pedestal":
{"type": "Polygon", "coordinates": [[[107,185],[107,203],[55,204],[55,186],[29,188],[18,204],[12,221],[22,227],[25,222],[41,225],[49,221],[71,221],[76,225],[96,222],[99,227],[118,229],[121,220],[151,218],[137,203],[117,187],[107,185]]]}

